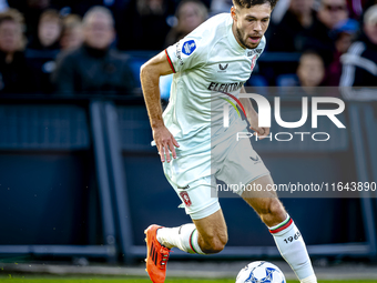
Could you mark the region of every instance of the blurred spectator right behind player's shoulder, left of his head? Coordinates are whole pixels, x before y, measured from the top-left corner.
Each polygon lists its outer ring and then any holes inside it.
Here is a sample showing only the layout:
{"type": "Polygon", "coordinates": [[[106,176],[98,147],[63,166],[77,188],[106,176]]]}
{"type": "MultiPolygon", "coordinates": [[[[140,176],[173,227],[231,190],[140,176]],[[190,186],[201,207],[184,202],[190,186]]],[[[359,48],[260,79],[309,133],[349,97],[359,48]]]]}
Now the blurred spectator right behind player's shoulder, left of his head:
{"type": "Polygon", "coordinates": [[[197,0],[184,0],[176,9],[177,24],[167,33],[165,47],[183,39],[208,18],[207,8],[197,0]]]}

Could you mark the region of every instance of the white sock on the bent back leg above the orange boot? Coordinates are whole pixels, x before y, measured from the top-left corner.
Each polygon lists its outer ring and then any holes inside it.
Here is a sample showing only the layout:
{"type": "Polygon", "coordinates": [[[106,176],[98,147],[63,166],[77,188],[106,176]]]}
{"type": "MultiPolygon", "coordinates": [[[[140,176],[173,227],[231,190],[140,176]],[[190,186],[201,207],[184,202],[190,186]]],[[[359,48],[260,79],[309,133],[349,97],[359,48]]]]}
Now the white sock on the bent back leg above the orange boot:
{"type": "Polygon", "coordinates": [[[186,253],[205,254],[197,243],[195,224],[184,224],[179,228],[161,228],[157,230],[157,241],[169,247],[179,247],[186,253]]]}

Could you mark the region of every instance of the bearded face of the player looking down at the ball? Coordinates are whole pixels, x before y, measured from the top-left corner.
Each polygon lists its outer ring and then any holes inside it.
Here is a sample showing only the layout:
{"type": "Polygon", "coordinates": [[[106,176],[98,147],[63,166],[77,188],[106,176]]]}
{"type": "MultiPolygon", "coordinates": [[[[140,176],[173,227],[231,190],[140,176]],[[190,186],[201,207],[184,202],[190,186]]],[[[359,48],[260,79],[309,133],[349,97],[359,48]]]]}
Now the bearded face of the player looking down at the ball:
{"type": "Polygon", "coordinates": [[[232,7],[233,32],[238,43],[248,49],[256,48],[266,32],[272,12],[269,3],[251,8],[232,7]]]}

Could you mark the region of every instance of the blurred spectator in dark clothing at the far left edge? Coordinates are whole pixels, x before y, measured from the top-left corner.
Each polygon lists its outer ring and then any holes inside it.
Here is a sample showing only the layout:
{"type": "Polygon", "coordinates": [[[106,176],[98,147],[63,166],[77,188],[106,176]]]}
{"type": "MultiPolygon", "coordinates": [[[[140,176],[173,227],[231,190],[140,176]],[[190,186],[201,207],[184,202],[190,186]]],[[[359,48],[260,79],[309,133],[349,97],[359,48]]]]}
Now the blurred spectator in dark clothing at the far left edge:
{"type": "Polygon", "coordinates": [[[13,9],[0,13],[0,91],[2,93],[24,93],[32,89],[23,55],[24,46],[22,14],[13,9]]]}

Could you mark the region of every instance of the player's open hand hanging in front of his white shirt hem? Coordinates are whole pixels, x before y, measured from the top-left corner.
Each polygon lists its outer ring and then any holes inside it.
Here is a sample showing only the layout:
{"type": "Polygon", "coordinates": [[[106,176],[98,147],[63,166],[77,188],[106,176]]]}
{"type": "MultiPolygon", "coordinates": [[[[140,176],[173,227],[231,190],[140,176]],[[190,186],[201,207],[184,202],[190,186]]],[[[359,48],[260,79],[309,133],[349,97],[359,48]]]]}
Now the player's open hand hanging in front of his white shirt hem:
{"type": "Polygon", "coordinates": [[[167,130],[165,125],[153,129],[153,140],[157,146],[161,162],[165,162],[165,156],[167,163],[171,161],[170,153],[174,159],[176,159],[175,148],[180,148],[180,144],[174,139],[173,134],[167,130]]]}

